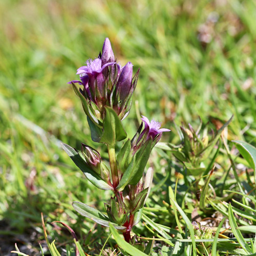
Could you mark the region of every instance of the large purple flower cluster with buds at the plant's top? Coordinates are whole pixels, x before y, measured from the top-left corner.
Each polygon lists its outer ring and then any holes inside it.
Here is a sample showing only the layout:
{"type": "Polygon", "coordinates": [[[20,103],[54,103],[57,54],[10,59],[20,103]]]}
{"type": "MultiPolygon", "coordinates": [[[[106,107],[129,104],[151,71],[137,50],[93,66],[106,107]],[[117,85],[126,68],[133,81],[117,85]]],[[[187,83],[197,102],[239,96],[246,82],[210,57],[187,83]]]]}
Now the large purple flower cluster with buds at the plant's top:
{"type": "MultiPolygon", "coordinates": [[[[132,96],[136,88],[139,70],[133,77],[133,65],[127,62],[121,67],[115,60],[109,38],[106,38],[98,58],[86,61],[86,66],[77,70],[84,111],[98,126],[102,126],[105,106],[115,110],[120,119],[124,119],[131,109],[132,96]]],[[[76,90],[77,91],[77,90],[76,90]]]]}

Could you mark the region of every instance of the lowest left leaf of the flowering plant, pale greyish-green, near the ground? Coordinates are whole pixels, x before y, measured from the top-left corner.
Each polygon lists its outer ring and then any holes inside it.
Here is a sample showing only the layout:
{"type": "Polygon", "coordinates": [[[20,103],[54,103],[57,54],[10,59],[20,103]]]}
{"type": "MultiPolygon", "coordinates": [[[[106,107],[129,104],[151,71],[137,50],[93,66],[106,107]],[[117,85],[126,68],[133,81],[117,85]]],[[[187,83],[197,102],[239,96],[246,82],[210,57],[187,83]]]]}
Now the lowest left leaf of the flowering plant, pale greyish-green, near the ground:
{"type": "Polygon", "coordinates": [[[116,228],[116,229],[125,229],[123,226],[119,226],[113,222],[110,222],[110,219],[108,216],[105,216],[102,214],[99,210],[80,202],[73,202],[72,203],[74,209],[79,212],[80,215],[85,216],[96,223],[103,225],[105,227],[109,227],[110,223],[116,228]]]}

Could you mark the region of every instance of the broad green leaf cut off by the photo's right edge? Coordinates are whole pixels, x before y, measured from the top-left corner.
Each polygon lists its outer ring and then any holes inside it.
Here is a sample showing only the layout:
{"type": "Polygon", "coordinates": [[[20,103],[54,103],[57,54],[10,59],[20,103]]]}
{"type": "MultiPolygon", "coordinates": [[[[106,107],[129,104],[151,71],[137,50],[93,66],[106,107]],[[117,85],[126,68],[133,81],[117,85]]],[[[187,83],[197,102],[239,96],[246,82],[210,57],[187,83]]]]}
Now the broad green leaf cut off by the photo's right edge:
{"type": "Polygon", "coordinates": [[[256,181],[256,148],[251,144],[241,140],[232,140],[232,142],[235,143],[239,153],[248,162],[249,166],[253,168],[254,179],[256,181]]]}

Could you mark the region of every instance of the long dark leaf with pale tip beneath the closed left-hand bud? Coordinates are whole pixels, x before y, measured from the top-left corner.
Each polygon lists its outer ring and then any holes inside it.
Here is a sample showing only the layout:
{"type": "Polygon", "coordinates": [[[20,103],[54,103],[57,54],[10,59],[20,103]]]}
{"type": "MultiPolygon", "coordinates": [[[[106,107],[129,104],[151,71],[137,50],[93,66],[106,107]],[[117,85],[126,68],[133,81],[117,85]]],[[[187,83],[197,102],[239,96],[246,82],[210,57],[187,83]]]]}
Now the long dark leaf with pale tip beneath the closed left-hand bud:
{"type": "Polygon", "coordinates": [[[75,148],[67,145],[62,144],[63,150],[66,151],[66,153],[70,156],[70,158],[73,160],[73,162],[76,164],[77,167],[81,169],[81,171],[84,173],[86,178],[93,183],[94,186],[100,188],[100,189],[112,189],[112,187],[103,181],[101,177],[95,173],[93,170],[91,170],[88,166],[86,161],[83,159],[83,157],[75,150],[75,148]]]}

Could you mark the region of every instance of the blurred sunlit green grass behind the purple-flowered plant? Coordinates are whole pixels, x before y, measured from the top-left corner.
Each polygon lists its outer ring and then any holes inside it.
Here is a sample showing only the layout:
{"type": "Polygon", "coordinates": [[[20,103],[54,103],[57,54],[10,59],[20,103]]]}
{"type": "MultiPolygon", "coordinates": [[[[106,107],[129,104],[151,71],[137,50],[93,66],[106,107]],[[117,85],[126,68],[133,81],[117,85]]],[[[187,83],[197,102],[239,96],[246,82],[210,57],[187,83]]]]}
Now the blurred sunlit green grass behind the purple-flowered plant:
{"type": "MultiPolygon", "coordinates": [[[[174,121],[197,124],[200,116],[218,126],[234,114],[229,139],[251,142],[255,19],[253,0],[2,0],[0,254],[8,255],[15,242],[38,253],[38,242],[44,245],[40,212],[49,222],[73,225],[81,237],[91,228],[96,232],[71,202],[103,208],[107,196],[85,180],[59,142],[98,147],[67,82],[98,56],[105,37],[122,65],[131,61],[134,70],[141,69],[135,104],[124,121],[130,137],[139,125],[136,110],[172,129],[163,140],[173,143],[174,121]]],[[[48,229],[58,243],[72,240],[48,229]]],[[[105,236],[99,226],[97,236],[105,236]]]]}

